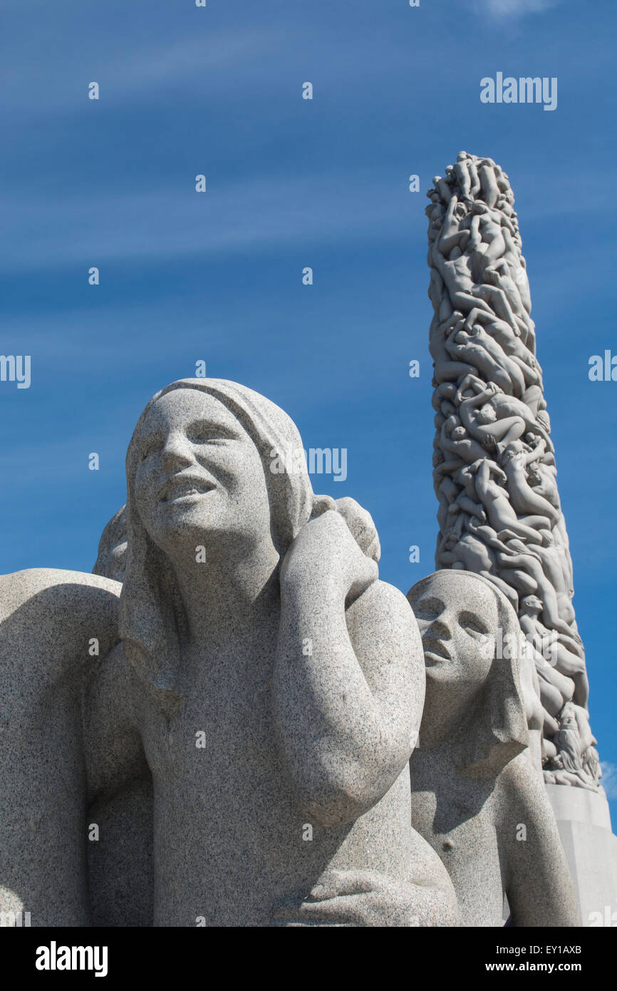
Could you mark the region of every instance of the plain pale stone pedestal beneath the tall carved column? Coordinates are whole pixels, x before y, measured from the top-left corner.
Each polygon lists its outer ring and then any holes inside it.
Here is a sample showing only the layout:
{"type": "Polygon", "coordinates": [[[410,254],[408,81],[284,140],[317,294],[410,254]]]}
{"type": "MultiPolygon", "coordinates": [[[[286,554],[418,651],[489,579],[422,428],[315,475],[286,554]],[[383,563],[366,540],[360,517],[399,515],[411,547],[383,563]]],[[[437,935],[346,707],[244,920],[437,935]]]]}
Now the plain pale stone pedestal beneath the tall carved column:
{"type": "Polygon", "coordinates": [[[583,926],[617,926],[617,836],[603,788],[547,785],[583,926]]]}

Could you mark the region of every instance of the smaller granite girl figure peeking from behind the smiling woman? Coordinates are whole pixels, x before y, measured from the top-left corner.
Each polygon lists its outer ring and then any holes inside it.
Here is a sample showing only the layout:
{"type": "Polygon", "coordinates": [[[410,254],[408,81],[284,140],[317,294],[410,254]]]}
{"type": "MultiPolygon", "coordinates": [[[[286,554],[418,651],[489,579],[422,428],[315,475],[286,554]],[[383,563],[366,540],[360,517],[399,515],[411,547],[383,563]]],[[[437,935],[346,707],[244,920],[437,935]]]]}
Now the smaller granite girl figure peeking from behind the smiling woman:
{"type": "Polygon", "coordinates": [[[463,926],[576,926],[566,857],[529,754],[514,609],[486,579],[442,570],[409,592],[426,701],[410,761],[412,824],[453,879],[463,926]],[[503,656],[500,656],[503,654],[503,656]]]}

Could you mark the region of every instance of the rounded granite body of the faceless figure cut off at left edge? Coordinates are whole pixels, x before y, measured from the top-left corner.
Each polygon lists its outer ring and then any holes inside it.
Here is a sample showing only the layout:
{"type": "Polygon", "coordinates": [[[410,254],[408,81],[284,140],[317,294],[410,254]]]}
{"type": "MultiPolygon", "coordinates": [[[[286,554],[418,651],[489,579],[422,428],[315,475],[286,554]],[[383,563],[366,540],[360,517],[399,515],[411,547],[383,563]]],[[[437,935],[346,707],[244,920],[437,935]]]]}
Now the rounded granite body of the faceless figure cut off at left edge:
{"type": "MultiPolygon", "coordinates": [[[[0,912],[87,926],[80,698],[117,640],[116,582],[36,568],[0,577],[0,912]]],[[[6,925],[10,925],[9,922],[6,925]]]]}

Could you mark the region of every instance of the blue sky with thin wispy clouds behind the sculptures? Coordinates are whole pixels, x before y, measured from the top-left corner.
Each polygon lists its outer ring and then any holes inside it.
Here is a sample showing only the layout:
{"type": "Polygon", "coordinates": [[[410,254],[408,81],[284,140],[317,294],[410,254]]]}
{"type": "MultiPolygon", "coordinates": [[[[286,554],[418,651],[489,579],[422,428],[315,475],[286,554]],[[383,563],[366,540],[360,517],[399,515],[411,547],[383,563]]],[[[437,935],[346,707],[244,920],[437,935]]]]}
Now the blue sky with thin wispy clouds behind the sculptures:
{"type": "Polygon", "coordinates": [[[488,155],[516,196],[592,726],[617,765],[617,383],[587,378],[617,353],[611,26],[610,0],[4,0],[0,348],[32,356],[32,385],[0,383],[2,571],[91,569],[139,413],[199,359],[305,447],[348,449],[347,481],[314,487],[371,511],[382,578],[432,571],[424,192],[459,151],[488,155]],[[557,76],[557,110],[481,104],[497,71],[557,76]]]}

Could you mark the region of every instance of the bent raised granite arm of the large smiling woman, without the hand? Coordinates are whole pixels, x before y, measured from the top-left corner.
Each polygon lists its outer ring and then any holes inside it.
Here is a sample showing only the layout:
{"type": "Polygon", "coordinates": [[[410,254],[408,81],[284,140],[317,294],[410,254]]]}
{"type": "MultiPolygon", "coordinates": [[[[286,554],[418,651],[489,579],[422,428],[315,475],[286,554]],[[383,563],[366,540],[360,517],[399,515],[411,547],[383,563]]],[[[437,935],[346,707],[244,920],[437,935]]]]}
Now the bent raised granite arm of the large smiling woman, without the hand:
{"type": "Polygon", "coordinates": [[[358,819],[401,773],[424,702],[413,612],[373,582],[346,612],[328,580],[281,584],[272,695],[282,756],[303,814],[323,826],[358,819]]]}

